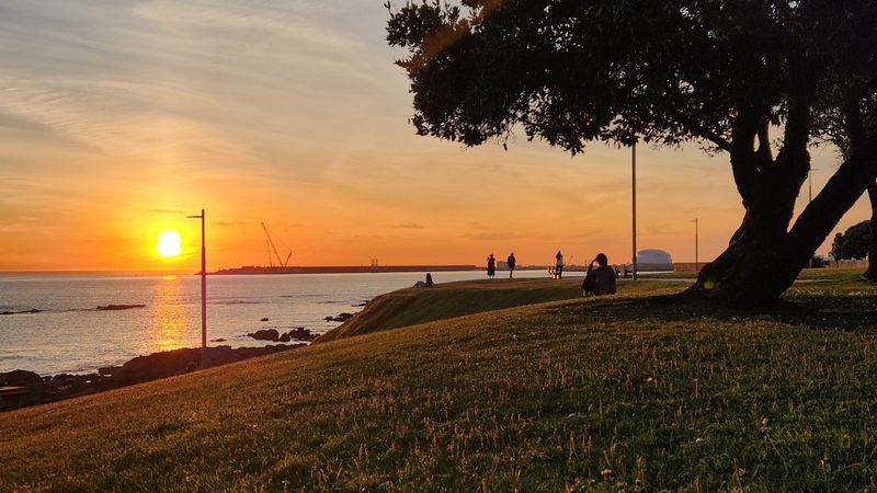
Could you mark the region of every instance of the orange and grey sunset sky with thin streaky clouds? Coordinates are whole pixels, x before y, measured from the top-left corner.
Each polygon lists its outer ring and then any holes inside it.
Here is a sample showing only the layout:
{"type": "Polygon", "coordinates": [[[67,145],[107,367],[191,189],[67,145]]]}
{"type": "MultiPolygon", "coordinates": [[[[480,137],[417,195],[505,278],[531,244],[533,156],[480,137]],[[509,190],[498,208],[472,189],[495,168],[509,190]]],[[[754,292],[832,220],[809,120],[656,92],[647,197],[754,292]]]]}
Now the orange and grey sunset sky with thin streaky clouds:
{"type": "MultiPolygon", "coordinates": [[[[265,264],[261,221],[294,265],[629,261],[629,149],[414,136],[381,3],[4,0],[0,270],[196,270],[201,208],[209,268],[265,264]],[[183,255],[156,254],[168,229],[183,255]]],[[[639,246],[693,261],[699,217],[717,255],[727,156],[638,151],[639,246]]],[[[838,159],[813,158],[816,193],[838,159]]]]}

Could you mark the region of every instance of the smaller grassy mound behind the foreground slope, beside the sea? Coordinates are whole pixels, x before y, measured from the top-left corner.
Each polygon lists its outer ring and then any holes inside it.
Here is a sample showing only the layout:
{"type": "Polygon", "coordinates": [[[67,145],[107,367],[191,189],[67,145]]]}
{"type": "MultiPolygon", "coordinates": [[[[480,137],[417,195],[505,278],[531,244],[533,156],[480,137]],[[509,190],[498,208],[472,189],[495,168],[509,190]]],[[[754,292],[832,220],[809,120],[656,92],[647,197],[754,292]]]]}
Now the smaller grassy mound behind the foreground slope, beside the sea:
{"type": "Polygon", "coordinates": [[[417,323],[581,296],[581,278],[483,279],[406,288],[371,300],[352,319],[321,335],[324,343],[417,323]]]}

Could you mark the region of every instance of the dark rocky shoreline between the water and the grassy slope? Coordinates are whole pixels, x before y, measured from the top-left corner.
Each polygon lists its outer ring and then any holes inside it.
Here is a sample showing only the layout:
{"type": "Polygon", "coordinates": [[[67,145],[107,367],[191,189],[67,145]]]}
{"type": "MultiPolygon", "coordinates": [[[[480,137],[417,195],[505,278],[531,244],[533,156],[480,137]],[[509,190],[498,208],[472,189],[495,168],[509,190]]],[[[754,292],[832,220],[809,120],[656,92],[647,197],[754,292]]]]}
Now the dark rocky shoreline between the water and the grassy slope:
{"type": "MultiPolygon", "coordinates": [[[[215,346],[207,348],[208,366],[289,351],[307,344],[275,344],[263,347],[215,346]]],[[[16,369],[0,374],[0,412],[60,401],[134,383],[187,374],[201,368],[201,348],[182,348],[138,356],[124,365],[99,368],[87,375],[39,375],[16,369]]]]}

